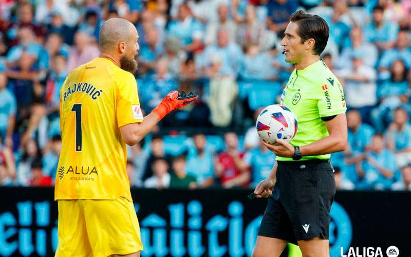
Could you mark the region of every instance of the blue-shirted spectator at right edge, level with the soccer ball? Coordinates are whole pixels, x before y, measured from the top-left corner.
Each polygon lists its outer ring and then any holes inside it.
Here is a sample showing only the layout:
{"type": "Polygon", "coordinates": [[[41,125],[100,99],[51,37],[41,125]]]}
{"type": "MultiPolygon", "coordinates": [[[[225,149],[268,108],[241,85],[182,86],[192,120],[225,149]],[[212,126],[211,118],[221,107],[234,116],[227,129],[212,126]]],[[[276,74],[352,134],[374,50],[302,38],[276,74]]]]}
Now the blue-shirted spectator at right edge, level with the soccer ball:
{"type": "Polygon", "coordinates": [[[402,108],[395,111],[394,122],[388,127],[387,145],[395,153],[400,169],[411,164],[411,126],[408,114],[402,108]]]}

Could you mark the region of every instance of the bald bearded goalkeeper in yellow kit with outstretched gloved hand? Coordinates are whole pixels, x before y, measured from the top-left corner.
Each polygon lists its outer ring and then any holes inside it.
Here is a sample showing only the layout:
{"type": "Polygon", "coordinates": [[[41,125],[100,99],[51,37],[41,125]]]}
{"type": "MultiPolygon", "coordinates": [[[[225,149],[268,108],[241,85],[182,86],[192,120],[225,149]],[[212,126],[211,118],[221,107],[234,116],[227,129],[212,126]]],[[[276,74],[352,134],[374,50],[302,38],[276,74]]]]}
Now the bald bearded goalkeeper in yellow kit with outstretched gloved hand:
{"type": "Polygon", "coordinates": [[[140,256],[125,144],[137,143],[165,115],[197,99],[171,91],[143,117],[133,76],[139,50],[135,26],[110,19],[100,29],[99,44],[100,57],[73,69],[60,91],[56,256],[140,256]]]}

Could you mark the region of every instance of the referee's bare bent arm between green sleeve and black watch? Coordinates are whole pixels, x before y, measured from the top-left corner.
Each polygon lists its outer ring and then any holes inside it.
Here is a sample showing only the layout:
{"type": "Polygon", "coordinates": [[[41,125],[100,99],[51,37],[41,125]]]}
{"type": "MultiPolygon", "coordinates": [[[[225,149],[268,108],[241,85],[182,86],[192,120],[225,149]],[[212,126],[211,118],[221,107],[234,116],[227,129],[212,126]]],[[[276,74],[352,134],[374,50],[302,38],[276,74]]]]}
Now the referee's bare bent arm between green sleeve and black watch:
{"type": "Polygon", "coordinates": [[[302,156],[323,155],[345,151],[347,148],[347,118],[345,113],[325,121],[325,125],[327,126],[329,135],[318,141],[301,146],[300,151],[302,156]]]}

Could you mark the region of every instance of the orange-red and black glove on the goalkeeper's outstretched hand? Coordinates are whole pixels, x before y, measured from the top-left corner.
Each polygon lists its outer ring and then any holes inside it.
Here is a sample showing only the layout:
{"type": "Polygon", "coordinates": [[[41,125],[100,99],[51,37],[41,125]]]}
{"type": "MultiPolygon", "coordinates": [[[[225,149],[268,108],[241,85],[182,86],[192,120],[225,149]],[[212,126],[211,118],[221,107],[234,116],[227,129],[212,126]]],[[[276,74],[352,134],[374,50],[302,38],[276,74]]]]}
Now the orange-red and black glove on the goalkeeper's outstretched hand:
{"type": "Polygon", "coordinates": [[[196,100],[197,98],[198,96],[194,95],[192,92],[190,92],[188,95],[185,95],[184,91],[181,91],[181,93],[178,93],[178,91],[170,91],[170,93],[164,97],[160,104],[157,105],[156,108],[154,108],[152,113],[157,114],[161,120],[171,111],[182,108],[188,105],[190,102],[196,100]]]}

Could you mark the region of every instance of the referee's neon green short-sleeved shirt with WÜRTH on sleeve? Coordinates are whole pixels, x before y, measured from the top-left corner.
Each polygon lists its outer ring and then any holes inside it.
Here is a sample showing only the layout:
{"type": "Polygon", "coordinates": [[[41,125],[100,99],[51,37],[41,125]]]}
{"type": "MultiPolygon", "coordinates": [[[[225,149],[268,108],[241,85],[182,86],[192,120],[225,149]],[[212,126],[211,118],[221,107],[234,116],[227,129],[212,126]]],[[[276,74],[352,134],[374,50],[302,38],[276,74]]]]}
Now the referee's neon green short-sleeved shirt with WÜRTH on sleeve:
{"type": "MultiPolygon", "coordinates": [[[[281,104],[297,117],[298,130],[292,145],[303,146],[328,136],[323,117],[345,113],[344,91],[340,81],[320,60],[302,70],[292,72],[281,96],[281,104]]],[[[329,159],[331,154],[303,156],[301,160],[329,159]]],[[[278,161],[292,158],[276,157],[278,161]]]]}

